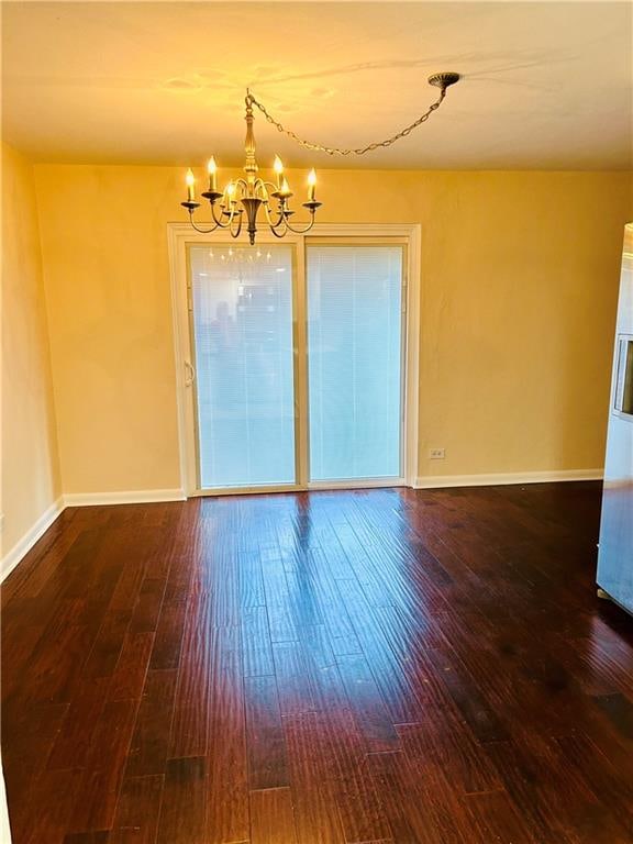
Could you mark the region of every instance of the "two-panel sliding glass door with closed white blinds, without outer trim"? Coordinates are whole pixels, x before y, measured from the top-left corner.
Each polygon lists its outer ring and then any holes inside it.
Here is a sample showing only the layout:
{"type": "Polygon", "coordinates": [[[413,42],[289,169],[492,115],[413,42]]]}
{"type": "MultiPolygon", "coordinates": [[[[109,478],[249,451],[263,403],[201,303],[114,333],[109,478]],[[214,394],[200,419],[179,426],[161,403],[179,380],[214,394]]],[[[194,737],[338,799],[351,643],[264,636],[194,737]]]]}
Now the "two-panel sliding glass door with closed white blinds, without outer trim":
{"type": "Polygon", "coordinates": [[[189,247],[201,491],[401,482],[403,270],[401,243],[189,247]]]}

